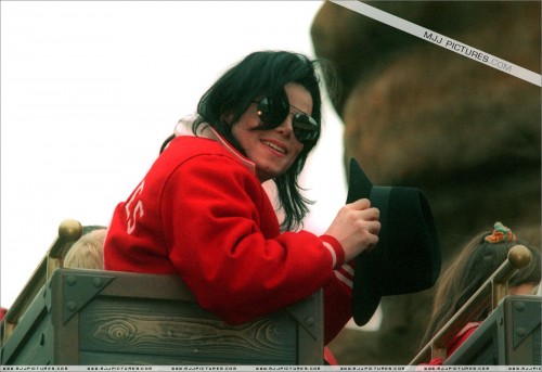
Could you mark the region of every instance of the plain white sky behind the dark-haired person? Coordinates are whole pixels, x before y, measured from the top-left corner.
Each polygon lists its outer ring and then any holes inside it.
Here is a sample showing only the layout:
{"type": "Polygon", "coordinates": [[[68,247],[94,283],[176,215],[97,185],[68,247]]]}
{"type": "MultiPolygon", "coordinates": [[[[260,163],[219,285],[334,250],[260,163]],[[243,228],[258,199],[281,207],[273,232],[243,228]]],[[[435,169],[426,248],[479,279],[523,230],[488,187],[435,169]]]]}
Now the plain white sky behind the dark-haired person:
{"type": "MultiPolygon", "coordinates": [[[[322,1],[1,1],[1,286],[10,307],[59,225],[107,225],[179,118],[263,49],[314,56],[322,1]]],[[[328,102],[304,185],[321,233],[346,198],[328,102]]]]}

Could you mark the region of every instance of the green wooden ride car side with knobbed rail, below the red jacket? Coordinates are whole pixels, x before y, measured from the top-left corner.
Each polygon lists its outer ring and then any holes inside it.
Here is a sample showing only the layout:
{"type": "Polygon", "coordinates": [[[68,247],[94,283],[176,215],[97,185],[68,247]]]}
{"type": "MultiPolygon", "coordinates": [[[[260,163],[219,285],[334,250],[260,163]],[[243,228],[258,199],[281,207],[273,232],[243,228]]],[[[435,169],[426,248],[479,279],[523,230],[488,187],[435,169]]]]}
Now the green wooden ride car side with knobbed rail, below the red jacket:
{"type": "Polygon", "coordinates": [[[0,324],[0,365],[323,362],[323,290],[243,324],[204,310],[179,275],[66,269],[59,236],[0,324]]]}

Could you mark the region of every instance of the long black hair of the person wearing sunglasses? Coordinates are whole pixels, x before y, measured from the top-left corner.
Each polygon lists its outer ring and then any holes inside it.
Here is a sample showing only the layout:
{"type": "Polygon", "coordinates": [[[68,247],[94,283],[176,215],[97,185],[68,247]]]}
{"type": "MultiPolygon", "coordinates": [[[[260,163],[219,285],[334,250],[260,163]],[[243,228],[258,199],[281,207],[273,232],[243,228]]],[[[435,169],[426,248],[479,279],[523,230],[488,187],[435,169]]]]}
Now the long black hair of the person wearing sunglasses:
{"type": "MultiPolygon", "coordinates": [[[[298,84],[309,91],[312,98],[310,115],[321,128],[322,98],[315,64],[317,61],[311,61],[304,54],[287,51],[260,51],[247,55],[204,93],[197,105],[199,118],[194,121],[194,133],[198,132],[199,126],[208,124],[237,151],[245,154],[232,134],[233,125],[258,97],[275,95],[284,90],[288,82],[298,84]]],[[[312,202],[301,195],[297,178],[319,138],[320,130],[314,141],[304,143],[304,149],[292,167],[273,179],[280,207],[285,216],[281,223],[283,231],[300,227],[309,211],[308,205],[312,202]]]]}

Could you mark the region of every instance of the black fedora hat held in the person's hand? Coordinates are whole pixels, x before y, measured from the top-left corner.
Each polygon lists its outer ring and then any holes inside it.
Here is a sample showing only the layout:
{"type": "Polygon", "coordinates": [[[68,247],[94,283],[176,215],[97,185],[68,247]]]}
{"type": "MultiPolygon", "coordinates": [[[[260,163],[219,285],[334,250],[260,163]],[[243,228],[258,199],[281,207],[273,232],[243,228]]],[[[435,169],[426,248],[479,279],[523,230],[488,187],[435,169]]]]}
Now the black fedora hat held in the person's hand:
{"type": "Polygon", "coordinates": [[[440,273],[440,244],[427,198],[420,189],[373,187],[350,161],[347,203],[369,198],[380,211],[378,244],[356,258],[352,316],[365,324],[382,296],[431,287],[440,273]]]}

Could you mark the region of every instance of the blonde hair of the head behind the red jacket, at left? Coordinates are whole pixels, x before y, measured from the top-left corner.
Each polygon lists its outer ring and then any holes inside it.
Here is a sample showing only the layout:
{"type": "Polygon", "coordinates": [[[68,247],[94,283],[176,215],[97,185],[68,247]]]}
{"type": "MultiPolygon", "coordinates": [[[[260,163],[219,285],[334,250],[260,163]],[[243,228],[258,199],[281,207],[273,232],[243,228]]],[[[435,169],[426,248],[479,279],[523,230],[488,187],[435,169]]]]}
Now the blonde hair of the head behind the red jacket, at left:
{"type": "Polygon", "coordinates": [[[64,267],[103,270],[103,244],[106,233],[106,229],[98,229],[79,238],[64,257],[64,267]]]}

